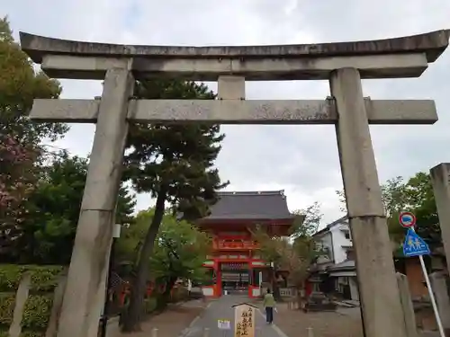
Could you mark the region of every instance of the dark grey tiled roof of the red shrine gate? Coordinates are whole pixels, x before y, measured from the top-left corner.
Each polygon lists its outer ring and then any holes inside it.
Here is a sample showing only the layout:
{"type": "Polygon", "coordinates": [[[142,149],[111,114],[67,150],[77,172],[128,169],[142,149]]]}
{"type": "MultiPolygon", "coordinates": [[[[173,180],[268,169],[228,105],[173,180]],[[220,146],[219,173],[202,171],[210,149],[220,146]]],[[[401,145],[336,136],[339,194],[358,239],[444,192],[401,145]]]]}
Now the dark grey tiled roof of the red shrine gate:
{"type": "Polygon", "coordinates": [[[293,218],[284,191],[220,191],[211,214],[202,221],[276,220],[293,218]]]}

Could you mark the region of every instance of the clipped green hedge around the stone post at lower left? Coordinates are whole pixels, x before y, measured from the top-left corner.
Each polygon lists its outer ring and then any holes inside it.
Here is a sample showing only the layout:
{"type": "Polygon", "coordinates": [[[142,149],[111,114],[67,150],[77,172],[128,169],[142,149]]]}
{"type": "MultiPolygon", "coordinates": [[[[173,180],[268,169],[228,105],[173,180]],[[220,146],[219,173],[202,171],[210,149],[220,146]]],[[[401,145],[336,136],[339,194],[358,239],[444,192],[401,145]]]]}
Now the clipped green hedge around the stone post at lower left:
{"type": "Polygon", "coordinates": [[[13,322],[15,293],[25,272],[31,274],[29,297],[22,317],[21,337],[45,336],[53,293],[62,266],[0,265],[0,337],[7,336],[13,322]]]}

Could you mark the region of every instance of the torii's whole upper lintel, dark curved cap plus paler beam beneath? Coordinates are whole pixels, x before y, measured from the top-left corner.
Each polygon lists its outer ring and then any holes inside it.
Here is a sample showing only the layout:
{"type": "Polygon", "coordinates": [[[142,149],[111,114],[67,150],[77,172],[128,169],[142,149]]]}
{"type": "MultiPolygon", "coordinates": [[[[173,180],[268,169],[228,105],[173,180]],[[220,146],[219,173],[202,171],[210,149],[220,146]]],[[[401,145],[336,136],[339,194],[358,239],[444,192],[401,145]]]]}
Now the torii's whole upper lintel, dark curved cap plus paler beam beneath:
{"type": "Polygon", "coordinates": [[[23,51],[34,62],[42,64],[44,71],[49,70],[49,75],[93,79],[102,78],[104,68],[111,67],[112,59],[125,58],[133,60],[131,68],[140,73],[138,77],[163,74],[186,78],[195,73],[192,79],[197,80],[217,80],[218,75],[224,74],[243,75],[247,80],[324,79],[329,69],[354,64],[363,69],[363,78],[412,77],[421,75],[428,63],[437,60],[448,46],[449,37],[450,30],[441,30],[386,40],[184,47],[60,40],[20,32],[23,51]],[[406,55],[416,58],[406,59],[406,55]],[[59,59],[46,62],[47,57],[59,59]],[[85,62],[81,68],[81,64],[75,67],[72,62],[67,65],[60,57],[95,58],[96,61],[95,65],[85,62]]]}

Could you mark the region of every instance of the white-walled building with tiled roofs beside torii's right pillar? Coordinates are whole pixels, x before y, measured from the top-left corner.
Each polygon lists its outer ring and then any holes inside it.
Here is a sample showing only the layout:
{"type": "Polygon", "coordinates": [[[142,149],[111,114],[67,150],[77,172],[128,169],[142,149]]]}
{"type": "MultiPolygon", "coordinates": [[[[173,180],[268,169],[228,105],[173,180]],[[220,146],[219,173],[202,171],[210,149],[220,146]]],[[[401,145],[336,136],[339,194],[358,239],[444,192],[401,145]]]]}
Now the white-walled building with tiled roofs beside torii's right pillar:
{"type": "Polygon", "coordinates": [[[314,235],[317,247],[324,252],[317,260],[317,269],[325,291],[337,292],[344,299],[358,300],[356,268],[348,219],[338,218],[314,235]]]}

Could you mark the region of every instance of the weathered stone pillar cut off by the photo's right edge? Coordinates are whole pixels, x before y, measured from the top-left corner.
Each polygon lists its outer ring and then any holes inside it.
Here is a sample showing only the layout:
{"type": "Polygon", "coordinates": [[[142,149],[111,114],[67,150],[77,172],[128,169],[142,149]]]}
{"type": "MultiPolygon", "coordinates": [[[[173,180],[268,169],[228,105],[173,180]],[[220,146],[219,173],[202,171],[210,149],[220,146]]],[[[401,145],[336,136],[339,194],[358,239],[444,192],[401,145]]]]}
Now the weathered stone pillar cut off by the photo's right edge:
{"type": "Polygon", "coordinates": [[[450,271],[450,163],[441,163],[429,171],[435,194],[442,242],[446,252],[447,270],[450,271]]]}

